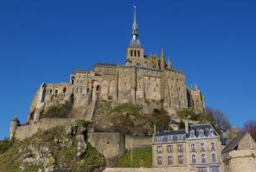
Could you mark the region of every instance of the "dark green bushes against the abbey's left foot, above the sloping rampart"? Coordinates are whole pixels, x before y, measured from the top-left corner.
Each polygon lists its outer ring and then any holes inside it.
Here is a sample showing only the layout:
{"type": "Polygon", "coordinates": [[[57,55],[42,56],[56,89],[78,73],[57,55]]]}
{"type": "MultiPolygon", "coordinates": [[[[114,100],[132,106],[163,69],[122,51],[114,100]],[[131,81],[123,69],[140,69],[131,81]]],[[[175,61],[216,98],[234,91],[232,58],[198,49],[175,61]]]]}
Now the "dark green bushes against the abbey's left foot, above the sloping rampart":
{"type": "Polygon", "coordinates": [[[64,105],[52,105],[48,111],[44,111],[40,118],[68,118],[72,110],[72,104],[66,102],[64,105]]]}

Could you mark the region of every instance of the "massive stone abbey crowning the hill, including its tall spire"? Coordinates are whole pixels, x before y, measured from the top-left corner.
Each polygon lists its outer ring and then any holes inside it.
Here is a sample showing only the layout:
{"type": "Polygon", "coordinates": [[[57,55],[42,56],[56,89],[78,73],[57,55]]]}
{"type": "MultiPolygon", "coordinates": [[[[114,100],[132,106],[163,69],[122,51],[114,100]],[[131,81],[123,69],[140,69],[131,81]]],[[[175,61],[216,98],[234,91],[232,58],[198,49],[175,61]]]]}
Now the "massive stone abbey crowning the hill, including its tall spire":
{"type": "Polygon", "coordinates": [[[93,70],[76,70],[68,83],[42,84],[30,106],[28,122],[35,122],[51,105],[72,103],[71,118],[92,120],[99,99],[113,105],[134,104],[143,109],[163,107],[170,114],[182,108],[204,111],[202,93],[189,88],[184,73],[161,55],[146,55],[138,40],[136,11],[131,43],[126,49],[125,64],[97,63],[93,70]]]}

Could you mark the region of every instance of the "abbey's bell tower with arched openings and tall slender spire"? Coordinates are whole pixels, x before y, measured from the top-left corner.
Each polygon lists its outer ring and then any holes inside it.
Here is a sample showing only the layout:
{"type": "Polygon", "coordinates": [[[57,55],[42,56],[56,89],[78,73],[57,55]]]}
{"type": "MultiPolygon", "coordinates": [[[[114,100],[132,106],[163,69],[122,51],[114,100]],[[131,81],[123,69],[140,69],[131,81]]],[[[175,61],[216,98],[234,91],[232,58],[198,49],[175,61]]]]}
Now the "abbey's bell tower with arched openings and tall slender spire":
{"type": "Polygon", "coordinates": [[[144,65],[144,48],[138,40],[138,23],[136,21],[136,6],[134,6],[133,24],[131,33],[131,43],[126,49],[125,65],[143,66],[144,65]]]}

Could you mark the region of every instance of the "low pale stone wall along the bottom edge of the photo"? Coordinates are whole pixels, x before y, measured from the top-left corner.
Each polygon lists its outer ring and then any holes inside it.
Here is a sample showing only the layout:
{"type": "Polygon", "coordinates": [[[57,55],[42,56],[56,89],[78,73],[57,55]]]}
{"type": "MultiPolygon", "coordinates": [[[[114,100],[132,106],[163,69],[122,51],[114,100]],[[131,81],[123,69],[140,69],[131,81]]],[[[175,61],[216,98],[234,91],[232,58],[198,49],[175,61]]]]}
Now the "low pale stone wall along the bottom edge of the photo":
{"type": "Polygon", "coordinates": [[[103,172],[189,172],[196,171],[186,167],[168,167],[168,168],[106,168],[103,172]]]}

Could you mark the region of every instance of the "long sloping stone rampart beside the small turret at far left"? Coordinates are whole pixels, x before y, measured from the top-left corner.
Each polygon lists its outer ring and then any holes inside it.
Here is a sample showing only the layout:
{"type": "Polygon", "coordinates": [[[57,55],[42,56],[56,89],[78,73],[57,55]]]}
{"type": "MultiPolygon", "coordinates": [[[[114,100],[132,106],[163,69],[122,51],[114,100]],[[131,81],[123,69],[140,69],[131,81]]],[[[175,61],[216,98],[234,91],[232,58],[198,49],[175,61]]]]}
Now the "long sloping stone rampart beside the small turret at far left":
{"type": "Polygon", "coordinates": [[[15,138],[17,140],[23,140],[32,137],[38,131],[46,131],[55,126],[68,124],[73,120],[70,118],[43,118],[33,124],[18,126],[15,132],[15,138]]]}

